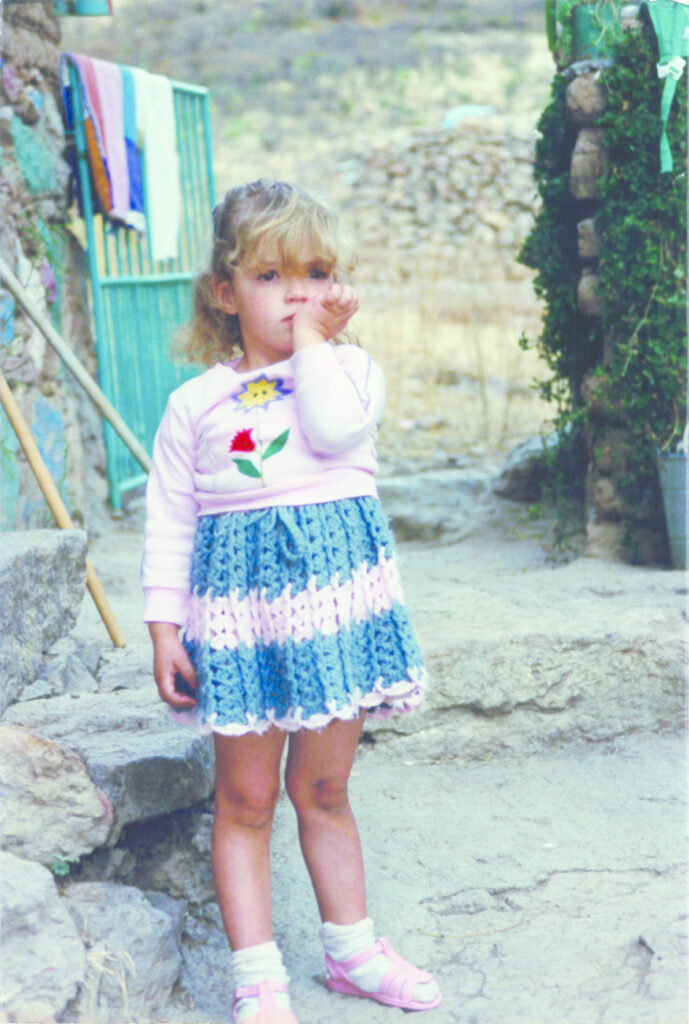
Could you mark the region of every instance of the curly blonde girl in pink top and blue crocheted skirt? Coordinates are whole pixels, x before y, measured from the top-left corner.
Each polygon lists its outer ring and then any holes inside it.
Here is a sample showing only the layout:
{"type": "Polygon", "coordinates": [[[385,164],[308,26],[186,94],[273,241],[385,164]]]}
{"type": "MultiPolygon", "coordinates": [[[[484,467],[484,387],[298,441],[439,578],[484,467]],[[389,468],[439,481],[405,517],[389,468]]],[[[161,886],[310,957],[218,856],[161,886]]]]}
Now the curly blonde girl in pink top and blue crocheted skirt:
{"type": "Polygon", "coordinates": [[[367,714],[416,708],[425,687],[374,480],[382,374],[331,344],[358,300],[329,209],[261,180],[213,223],[187,346],[210,369],[170,396],[156,438],[143,586],[160,695],[213,732],[232,1019],[296,1022],[270,891],[288,737],[328,987],[432,1009],[432,976],[376,940],[347,798],[367,714]]]}

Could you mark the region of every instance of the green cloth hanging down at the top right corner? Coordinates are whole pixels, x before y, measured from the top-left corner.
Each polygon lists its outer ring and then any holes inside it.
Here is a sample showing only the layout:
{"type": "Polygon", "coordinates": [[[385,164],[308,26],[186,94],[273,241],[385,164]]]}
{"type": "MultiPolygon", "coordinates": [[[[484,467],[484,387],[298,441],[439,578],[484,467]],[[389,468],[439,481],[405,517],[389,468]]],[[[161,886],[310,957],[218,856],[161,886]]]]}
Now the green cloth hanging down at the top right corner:
{"type": "Polygon", "coordinates": [[[660,98],[660,173],[672,171],[668,118],[677,83],[689,56],[689,4],[684,0],[645,0],[658,40],[658,78],[664,79],[660,98]]]}

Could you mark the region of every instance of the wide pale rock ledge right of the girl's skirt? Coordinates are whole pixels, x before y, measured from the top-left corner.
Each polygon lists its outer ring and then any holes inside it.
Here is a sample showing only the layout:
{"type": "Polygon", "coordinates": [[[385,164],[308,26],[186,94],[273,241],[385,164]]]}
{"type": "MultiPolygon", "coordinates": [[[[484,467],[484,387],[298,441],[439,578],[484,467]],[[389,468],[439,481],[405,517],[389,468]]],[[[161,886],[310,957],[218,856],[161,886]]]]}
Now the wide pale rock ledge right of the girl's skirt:
{"type": "Polygon", "coordinates": [[[502,567],[494,580],[484,568],[472,584],[471,566],[451,554],[411,595],[423,598],[415,621],[431,676],[425,708],[367,725],[375,738],[398,737],[410,754],[442,760],[682,727],[679,573],[577,559],[511,583],[502,567]],[[443,601],[445,575],[462,581],[455,604],[443,601]]]}

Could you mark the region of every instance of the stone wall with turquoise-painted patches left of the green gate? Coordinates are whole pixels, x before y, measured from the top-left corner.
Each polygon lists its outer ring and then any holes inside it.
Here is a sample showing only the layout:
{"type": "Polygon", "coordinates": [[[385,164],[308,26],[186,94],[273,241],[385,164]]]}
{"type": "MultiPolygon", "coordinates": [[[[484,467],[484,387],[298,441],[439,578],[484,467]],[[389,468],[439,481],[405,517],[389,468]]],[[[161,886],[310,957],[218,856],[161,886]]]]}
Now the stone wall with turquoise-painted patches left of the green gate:
{"type": "MultiPolygon", "coordinates": [[[[96,362],[87,272],[70,229],[70,172],[59,89],[59,25],[47,3],[1,4],[0,251],[87,370],[96,362]]],[[[97,529],[106,498],[102,431],[80,385],[0,289],[0,369],[68,509],[97,529]]],[[[51,515],[0,410],[0,529],[51,515]]]]}

